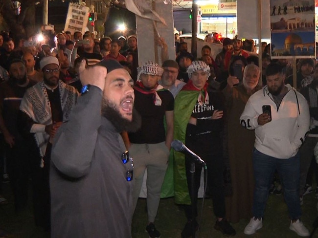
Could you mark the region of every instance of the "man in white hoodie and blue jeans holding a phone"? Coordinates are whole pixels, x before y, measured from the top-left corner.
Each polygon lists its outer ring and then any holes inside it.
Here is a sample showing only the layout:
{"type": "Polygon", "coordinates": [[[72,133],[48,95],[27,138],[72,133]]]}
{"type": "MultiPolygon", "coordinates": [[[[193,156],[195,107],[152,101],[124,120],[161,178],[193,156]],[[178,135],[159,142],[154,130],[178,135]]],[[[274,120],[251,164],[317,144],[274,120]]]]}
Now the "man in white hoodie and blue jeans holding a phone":
{"type": "Polygon", "coordinates": [[[241,125],[255,129],[253,149],[254,197],[246,235],[261,229],[275,169],[284,184],[284,196],[291,223],[289,229],[299,236],[310,233],[300,221],[299,153],[309,131],[309,108],[306,99],[290,85],[285,85],[282,66],[270,64],[266,69],[267,86],[250,96],[240,117],[241,125]],[[263,110],[263,106],[270,110],[263,110]],[[270,113],[271,112],[271,113],[270,113]]]}

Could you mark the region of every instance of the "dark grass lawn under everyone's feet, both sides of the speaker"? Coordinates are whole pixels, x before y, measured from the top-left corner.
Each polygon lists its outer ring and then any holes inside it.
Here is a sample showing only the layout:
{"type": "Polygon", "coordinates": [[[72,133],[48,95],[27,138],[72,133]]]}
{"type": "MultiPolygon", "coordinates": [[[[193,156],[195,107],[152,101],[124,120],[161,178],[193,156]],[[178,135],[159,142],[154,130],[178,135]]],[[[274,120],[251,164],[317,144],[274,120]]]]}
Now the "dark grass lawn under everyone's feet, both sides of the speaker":
{"type": "MultiPolygon", "coordinates": [[[[35,227],[32,214],[31,201],[26,211],[19,215],[14,213],[13,195],[9,184],[3,184],[4,196],[8,199],[7,205],[0,205],[0,228],[8,232],[8,238],[49,238],[49,234],[41,228],[35,227]]],[[[31,191],[30,196],[31,198],[31,191]]],[[[89,202],[89,201],[88,201],[89,202]]],[[[318,213],[316,209],[317,200],[315,193],[304,196],[302,206],[302,221],[312,231],[312,223],[318,213]]],[[[199,199],[199,213],[201,211],[202,199],[199,199]]],[[[181,231],[186,222],[182,208],[174,204],[173,198],[161,199],[159,212],[155,221],[157,229],[161,232],[161,238],[180,238],[181,231]]],[[[237,238],[296,238],[295,232],[289,230],[287,206],[283,195],[270,195],[265,211],[263,228],[256,234],[246,236],[243,234],[244,227],[249,220],[240,220],[233,224],[237,238]]],[[[211,199],[204,201],[203,216],[199,238],[222,238],[219,231],[214,230],[215,217],[212,211],[211,199]]],[[[146,199],[139,199],[136,213],[133,218],[133,238],[148,238],[145,231],[147,225],[146,199]]],[[[318,231],[313,237],[318,238],[318,231]]]]}

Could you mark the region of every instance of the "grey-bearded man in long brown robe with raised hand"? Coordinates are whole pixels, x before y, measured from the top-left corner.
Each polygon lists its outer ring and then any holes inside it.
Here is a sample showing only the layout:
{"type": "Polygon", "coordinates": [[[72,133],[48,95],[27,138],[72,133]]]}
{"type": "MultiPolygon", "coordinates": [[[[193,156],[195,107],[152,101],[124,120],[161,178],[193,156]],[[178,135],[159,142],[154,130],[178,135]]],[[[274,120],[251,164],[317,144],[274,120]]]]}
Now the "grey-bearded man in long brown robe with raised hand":
{"type": "Polygon", "coordinates": [[[223,90],[227,105],[226,145],[232,187],[231,195],[225,198],[226,217],[233,223],[239,222],[241,218],[249,219],[251,216],[254,177],[252,154],[247,151],[253,149],[255,133],[241,127],[239,118],[250,96],[262,88],[258,85],[259,77],[259,67],[253,64],[246,65],[243,83],[230,75],[227,78],[227,87],[223,90]]]}

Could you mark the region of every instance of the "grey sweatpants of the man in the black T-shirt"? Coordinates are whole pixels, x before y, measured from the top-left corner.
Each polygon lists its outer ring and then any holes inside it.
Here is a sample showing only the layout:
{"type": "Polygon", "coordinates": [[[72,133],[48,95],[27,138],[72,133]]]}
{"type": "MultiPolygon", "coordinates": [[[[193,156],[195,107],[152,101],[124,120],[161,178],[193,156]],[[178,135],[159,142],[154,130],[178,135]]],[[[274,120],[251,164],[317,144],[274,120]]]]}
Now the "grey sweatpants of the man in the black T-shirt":
{"type": "Polygon", "coordinates": [[[165,142],[158,144],[131,144],[129,154],[134,160],[134,211],[140,194],[143,175],[147,169],[148,222],[154,222],[160,202],[161,186],[167,169],[169,150],[165,142]]]}

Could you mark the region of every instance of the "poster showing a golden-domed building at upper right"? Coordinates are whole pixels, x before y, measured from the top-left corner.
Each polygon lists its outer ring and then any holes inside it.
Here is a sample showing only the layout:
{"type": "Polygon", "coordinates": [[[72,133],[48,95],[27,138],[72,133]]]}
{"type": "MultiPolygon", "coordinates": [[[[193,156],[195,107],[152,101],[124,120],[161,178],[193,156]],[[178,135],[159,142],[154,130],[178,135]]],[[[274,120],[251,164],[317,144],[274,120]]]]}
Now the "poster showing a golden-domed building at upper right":
{"type": "Polygon", "coordinates": [[[315,0],[270,0],[272,58],[315,58],[315,0]]]}

